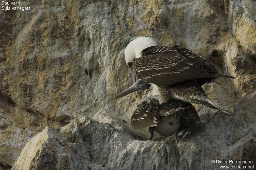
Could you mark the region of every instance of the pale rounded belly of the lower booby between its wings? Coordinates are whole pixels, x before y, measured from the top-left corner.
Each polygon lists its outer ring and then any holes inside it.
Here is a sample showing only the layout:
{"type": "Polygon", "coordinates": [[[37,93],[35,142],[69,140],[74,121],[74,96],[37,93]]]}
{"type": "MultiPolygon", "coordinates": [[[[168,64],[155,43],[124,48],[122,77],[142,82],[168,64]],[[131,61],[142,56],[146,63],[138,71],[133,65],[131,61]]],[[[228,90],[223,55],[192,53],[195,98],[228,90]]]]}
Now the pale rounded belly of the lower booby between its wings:
{"type": "Polygon", "coordinates": [[[175,114],[161,117],[155,131],[162,136],[172,136],[180,127],[180,117],[175,114]]]}

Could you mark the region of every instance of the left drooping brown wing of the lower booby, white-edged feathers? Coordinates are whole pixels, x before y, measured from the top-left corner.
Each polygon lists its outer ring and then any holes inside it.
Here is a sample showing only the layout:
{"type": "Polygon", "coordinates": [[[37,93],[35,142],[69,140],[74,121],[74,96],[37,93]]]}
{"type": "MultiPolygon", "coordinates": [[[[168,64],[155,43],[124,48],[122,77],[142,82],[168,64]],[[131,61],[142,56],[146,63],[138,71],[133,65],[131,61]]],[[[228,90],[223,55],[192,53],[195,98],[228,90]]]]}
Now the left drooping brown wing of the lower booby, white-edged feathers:
{"type": "Polygon", "coordinates": [[[134,129],[144,129],[156,126],[159,121],[159,113],[159,101],[154,99],[144,100],[132,114],[132,127],[134,129]]]}

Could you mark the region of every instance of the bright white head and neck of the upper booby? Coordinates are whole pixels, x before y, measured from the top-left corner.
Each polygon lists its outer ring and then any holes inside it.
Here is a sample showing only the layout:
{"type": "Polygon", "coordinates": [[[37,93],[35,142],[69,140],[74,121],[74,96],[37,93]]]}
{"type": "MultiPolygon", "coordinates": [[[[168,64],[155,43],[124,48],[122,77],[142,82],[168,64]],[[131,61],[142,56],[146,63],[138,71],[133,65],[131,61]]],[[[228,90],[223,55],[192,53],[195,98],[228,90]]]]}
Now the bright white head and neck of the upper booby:
{"type": "Polygon", "coordinates": [[[131,41],[124,50],[125,61],[128,66],[134,58],[140,57],[140,52],[148,47],[157,45],[156,41],[150,37],[139,37],[131,41]]]}

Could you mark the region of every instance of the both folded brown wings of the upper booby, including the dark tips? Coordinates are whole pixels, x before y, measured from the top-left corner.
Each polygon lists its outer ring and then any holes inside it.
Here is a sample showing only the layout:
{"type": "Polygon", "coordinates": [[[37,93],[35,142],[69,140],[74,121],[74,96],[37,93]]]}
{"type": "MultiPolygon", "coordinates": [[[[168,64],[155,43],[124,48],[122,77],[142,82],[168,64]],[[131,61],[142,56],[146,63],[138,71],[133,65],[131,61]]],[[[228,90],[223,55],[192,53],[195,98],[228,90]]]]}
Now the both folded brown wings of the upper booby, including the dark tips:
{"type": "Polygon", "coordinates": [[[133,70],[145,83],[167,87],[184,80],[196,79],[203,85],[220,75],[212,62],[180,46],[151,46],[133,60],[133,70]]]}

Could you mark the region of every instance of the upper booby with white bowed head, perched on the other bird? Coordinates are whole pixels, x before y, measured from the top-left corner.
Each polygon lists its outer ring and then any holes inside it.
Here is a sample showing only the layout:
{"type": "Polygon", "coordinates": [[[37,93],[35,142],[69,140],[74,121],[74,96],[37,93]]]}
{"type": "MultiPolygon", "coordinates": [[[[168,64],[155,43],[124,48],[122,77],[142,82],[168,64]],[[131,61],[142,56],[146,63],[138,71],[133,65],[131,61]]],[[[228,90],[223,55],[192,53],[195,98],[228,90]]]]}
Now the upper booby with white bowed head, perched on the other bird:
{"type": "Polygon", "coordinates": [[[228,113],[207,97],[201,85],[219,77],[234,77],[218,74],[213,63],[203,55],[178,45],[157,45],[150,37],[131,41],[124,55],[133,82],[140,78],[145,83],[156,84],[160,103],[166,98],[183,100],[228,113]]]}

